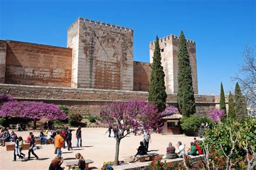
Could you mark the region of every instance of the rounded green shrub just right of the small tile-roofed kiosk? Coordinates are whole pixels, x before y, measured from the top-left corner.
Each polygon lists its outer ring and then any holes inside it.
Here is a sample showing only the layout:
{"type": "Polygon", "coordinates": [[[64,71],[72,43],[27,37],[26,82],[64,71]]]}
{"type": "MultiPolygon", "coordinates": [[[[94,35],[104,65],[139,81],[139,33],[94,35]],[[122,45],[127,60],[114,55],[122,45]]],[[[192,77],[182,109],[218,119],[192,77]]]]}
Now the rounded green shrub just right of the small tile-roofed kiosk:
{"type": "Polygon", "coordinates": [[[190,117],[183,117],[180,119],[181,128],[187,136],[194,136],[201,125],[200,118],[196,115],[190,117]]]}

